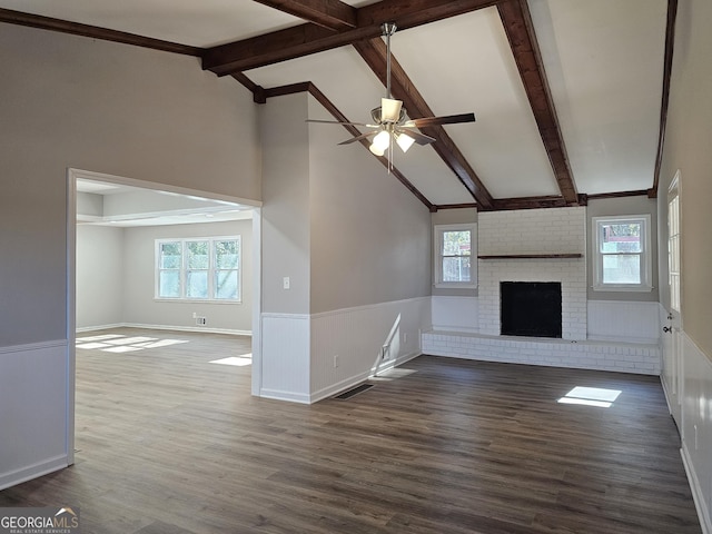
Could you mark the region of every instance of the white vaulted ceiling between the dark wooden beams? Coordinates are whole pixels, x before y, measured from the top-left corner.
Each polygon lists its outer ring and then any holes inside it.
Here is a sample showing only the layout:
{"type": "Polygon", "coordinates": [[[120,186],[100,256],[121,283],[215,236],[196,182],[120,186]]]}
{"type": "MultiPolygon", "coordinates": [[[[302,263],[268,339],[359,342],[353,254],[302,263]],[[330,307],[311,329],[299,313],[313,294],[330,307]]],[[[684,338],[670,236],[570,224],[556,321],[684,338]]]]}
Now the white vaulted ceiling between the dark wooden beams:
{"type": "MultiPolygon", "coordinates": [[[[668,1],[528,0],[526,6],[577,192],[652,188],[668,1]]],[[[200,49],[305,23],[245,0],[0,0],[0,8],[200,49]]],[[[392,48],[435,115],[475,113],[476,122],[444,129],[494,199],[561,195],[496,7],[399,30],[392,48]]],[[[265,89],[310,81],[353,121],[369,121],[385,93],[350,44],[244,75],[265,89]]],[[[325,111],[315,118],[332,117],[325,111]]],[[[309,128],[333,128],[339,140],[350,137],[339,126],[309,128]]],[[[366,149],[353,144],[334,150],[366,149]]],[[[432,147],[396,152],[395,166],[432,205],[475,202],[432,147]]]]}

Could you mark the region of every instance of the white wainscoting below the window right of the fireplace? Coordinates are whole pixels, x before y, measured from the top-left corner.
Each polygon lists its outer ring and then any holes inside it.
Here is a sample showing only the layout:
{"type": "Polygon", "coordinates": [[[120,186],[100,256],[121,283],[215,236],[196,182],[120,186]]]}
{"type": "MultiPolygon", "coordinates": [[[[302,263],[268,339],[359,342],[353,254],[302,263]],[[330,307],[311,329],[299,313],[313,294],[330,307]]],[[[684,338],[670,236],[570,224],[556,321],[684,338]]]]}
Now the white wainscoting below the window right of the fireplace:
{"type": "Polygon", "coordinates": [[[656,344],[660,304],[589,300],[589,339],[656,344]]]}

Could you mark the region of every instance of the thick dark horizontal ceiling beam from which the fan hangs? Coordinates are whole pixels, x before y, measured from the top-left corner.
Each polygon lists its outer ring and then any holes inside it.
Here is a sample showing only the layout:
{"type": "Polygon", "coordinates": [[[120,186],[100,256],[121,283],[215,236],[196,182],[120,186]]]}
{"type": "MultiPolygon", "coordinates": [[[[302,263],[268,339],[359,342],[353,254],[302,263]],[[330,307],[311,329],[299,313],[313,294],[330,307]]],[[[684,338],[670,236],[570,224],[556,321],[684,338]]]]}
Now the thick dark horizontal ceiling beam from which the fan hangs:
{"type": "MultiPolygon", "coordinates": [[[[202,68],[218,76],[250,70],[379,37],[384,22],[395,22],[399,29],[414,28],[494,6],[497,1],[501,0],[382,0],[358,8],[356,27],[343,31],[307,22],[206,49],[202,68]]],[[[286,3],[294,7],[295,2],[286,3]]]]}

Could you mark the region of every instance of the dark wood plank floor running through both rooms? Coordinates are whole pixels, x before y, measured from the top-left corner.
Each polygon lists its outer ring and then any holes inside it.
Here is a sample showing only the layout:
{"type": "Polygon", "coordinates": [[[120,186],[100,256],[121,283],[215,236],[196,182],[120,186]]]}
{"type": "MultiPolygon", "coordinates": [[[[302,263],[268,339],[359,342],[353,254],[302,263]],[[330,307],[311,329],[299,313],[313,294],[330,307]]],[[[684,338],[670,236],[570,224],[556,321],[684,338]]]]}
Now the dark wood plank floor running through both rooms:
{"type": "Polygon", "coordinates": [[[304,406],[210,363],[249,338],[96,335],[139,339],[79,340],[76,465],[0,506],[79,507],[85,534],[701,532],[655,377],[421,356],[304,406]],[[621,393],[557,402],[576,386],[621,393]]]}

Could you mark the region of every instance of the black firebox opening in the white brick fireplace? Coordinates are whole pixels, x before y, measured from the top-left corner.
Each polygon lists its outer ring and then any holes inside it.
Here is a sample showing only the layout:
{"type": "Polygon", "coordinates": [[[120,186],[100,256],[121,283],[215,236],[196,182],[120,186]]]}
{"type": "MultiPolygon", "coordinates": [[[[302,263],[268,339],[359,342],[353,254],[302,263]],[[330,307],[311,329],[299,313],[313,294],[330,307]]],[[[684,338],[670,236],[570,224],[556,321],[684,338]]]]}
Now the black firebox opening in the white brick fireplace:
{"type": "Polygon", "coordinates": [[[502,281],[503,336],[561,337],[561,283],[502,281]]]}

